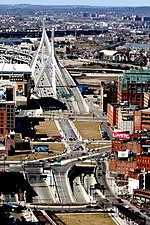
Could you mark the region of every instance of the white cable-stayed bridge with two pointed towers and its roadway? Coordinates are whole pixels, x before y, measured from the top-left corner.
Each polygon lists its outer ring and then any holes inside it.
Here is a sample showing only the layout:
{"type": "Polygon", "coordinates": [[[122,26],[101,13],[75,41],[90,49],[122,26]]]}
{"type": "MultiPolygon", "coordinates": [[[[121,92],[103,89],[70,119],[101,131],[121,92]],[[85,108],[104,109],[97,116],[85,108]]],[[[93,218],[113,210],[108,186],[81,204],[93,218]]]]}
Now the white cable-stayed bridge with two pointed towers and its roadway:
{"type": "Polygon", "coordinates": [[[49,41],[44,24],[42,38],[32,63],[32,77],[39,97],[58,99],[73,113],[89,112],[76,83],[57,59],[54,48],[54,29],[49,41]]]}

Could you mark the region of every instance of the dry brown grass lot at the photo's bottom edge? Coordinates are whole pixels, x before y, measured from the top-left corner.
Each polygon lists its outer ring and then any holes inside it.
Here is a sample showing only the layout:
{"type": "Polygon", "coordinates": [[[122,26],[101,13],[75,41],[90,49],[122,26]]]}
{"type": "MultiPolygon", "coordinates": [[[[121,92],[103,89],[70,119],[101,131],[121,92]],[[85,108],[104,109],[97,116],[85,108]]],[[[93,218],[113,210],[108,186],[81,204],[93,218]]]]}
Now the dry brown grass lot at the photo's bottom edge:
{"type": "Polygon", "coordinates": [[[61,214],[57,216],[66,225],[115,225],[116,223],[110,218],[108,214],[61,214]]]}

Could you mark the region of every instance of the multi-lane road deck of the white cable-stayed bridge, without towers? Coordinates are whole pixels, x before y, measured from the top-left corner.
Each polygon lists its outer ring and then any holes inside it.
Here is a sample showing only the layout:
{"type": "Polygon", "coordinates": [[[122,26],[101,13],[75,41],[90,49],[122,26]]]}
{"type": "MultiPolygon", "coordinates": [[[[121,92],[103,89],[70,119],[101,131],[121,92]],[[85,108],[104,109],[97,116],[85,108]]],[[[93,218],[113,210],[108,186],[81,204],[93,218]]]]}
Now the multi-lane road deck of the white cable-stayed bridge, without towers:
{"type": "MultiPolygon", "coordinates": [[[[36,74],[40,73],[35,71],[36,74]]],[[[88,106],[86,105],[78,87],[74,83],[70,74],[62,66],[57,67],[56,70],[56,96],[52,87],[52,75],[51,70],[43,72],[41,79],[37,86],[37,93],[39,97],[54,97],[59,101],[66,104],[69,112],[73,113],[85,113],[88,112],[88,106]],[[63,97],[68,95],[69,97],[63,97]]],[[[38,75],[39,76],[39,75],[38,75]]]]}

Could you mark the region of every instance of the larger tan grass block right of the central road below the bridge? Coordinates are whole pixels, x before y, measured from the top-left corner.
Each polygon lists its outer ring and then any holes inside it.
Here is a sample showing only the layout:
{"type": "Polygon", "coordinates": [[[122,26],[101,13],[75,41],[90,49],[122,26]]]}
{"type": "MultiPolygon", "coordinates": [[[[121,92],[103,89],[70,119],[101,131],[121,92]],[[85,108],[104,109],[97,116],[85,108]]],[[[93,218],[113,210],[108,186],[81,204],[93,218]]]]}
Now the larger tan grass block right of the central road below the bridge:
{"type": "Polygon", "coordinates": [[[98,121],[73,121],[80,135],[84,139],[102,140],[100,122],[98,121]]]}

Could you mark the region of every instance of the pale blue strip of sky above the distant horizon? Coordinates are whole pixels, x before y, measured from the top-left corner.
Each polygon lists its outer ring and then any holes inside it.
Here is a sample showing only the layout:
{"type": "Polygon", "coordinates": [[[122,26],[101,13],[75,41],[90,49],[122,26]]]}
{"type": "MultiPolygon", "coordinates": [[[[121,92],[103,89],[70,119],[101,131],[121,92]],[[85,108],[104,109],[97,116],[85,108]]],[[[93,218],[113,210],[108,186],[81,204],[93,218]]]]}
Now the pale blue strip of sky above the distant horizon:
{"type": "Polygon", "coordinates": [[[0,0],[0,4],[150,6],[150,0],[0,0]]]}

